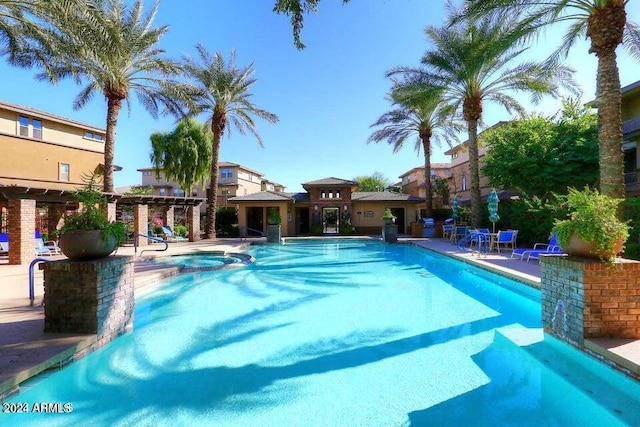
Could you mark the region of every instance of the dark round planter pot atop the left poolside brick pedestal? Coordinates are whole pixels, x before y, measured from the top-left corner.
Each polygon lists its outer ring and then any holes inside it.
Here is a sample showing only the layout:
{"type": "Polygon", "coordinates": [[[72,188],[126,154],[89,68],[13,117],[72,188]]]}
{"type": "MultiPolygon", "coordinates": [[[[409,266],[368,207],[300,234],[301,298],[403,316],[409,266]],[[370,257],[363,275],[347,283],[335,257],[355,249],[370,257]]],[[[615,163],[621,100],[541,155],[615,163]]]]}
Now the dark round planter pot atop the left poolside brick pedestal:
{"type": "Polygon", "coordinates": [[[58,242],[62,253],[74,261],[88,261],[104,258],[116,250],[115,236],[105,241],[100,230],[69,230],[60,236],[58,242]]]}

